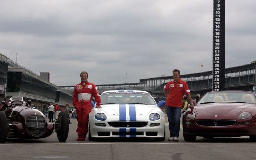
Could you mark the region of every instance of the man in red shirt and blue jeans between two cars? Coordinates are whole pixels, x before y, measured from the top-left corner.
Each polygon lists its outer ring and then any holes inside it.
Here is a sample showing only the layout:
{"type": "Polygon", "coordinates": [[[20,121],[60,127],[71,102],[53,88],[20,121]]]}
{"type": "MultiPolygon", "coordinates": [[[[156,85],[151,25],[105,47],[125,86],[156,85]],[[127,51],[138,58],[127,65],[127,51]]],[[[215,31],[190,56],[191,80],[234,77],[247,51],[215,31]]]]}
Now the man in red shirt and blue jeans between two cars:
{"type": "Polygon", "coordinates": [[[173,81],[168,82],[164,86],[163,93],[166,97],[166,112],[170,130],[168,141],[178,141],[180,135],[181,101],[185,94],[190,102],[189,108],[193,108],[190,90],[187,83],[180,79],[180,71],[178,69],[173,70],[173,81]],[[167,91],[169,91],[169,95],[167,91]]]}

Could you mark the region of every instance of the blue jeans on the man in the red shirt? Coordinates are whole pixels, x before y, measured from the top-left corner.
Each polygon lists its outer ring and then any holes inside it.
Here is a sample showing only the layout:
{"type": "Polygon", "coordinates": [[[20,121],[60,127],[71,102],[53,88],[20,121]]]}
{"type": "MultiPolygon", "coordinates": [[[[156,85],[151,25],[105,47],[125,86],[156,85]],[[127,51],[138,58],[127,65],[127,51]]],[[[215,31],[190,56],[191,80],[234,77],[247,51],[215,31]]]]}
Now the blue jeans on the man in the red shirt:
{"type": "Polygon", "coordinates": [[[166,112],[167,112],[171,137],[179,137],[181,108],[166,106],[166,112]]]}

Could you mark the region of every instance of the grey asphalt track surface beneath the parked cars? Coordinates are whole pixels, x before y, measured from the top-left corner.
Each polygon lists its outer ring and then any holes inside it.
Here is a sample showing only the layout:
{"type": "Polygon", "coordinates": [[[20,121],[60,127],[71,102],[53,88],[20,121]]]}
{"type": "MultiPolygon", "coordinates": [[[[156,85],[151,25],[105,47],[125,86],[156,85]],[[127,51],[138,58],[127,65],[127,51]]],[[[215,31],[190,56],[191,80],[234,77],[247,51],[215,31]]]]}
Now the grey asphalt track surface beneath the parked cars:
{"type": "Polygon", "coordinates": [[[71,120],[69,136],[60,143],[56,133],[42,139],[7,139],[0,144],[0,160],[38,159],[97,159],[97,160],[250,160],[256,159],[256,143],[249,137],[203,139],[185,142],[180,129],[180,141],[168,142],[153,139],[101,139],[99,141],[76,141],[76,119],[71,120]]]}

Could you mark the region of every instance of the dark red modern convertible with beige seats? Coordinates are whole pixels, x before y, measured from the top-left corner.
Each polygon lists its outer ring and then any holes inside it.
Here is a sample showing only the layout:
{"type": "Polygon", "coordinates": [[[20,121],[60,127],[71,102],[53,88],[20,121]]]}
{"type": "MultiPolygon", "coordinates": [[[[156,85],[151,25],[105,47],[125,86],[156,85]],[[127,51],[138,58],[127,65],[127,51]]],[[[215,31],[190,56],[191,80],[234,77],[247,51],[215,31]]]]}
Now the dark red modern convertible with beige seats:
{"type": "Polygon", "coordinates": [[[185,141],[249,136],[256,142],[256,95],[250,91],[208,92],[183,114],[185,141]]]}

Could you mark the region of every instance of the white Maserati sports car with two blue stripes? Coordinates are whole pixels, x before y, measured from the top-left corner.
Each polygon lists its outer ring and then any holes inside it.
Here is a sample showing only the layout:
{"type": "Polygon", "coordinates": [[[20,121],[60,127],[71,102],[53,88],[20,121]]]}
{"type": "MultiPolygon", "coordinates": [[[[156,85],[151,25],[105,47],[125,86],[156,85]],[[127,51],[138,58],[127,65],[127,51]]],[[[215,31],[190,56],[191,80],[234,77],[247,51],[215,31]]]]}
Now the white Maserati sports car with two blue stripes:
{"type": "Polygon", "coordinates": [[[101,94],[101,107],[89,114],[89,140],[148,137],[165,140],[165,114],[146,91],[112,90],[101,94]]]}

